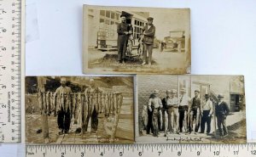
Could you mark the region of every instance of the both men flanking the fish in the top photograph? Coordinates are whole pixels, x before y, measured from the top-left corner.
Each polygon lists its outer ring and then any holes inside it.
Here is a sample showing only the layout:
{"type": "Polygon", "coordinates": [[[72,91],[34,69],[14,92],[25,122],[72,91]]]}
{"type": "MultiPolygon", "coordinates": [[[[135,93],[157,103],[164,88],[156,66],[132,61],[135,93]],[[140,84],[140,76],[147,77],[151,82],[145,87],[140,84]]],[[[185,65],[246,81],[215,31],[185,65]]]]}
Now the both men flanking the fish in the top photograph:
{"type": "MultiPolygon", "coordinates": [[[[133,34],[133,28],[131,24],[126,23],[126,16],[124,14],[120,15],[121,23],[117,26],[118,33],[118,61],[119,63],[125,63],[125,55],[127,42],[129,37],[133,34]]],[[[154,18],[148,17],[148,23],[143,26],[142,42],[143,42],[143,64],[151,65],[152,64],[152,52],[154,47],[154,33],[155,26],[153,25],[154,18]],[[148,52],[148,58],[147,58],[148,52]]]]}

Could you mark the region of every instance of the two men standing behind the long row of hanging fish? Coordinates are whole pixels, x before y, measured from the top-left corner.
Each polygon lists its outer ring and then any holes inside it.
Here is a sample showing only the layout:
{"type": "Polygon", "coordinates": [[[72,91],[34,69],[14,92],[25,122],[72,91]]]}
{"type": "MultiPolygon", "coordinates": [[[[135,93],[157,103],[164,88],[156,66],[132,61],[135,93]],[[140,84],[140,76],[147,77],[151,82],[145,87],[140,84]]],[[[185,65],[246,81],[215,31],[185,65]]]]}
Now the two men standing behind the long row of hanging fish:
{"type": "MultiPolygon", "coordinates": [[[[70,94],[72,90],[70,87],[66,85],[67,80],[65,77],[61,77],[61,87],[58,87],[55,91],[55,94],[70,94]]],[[[87,87],[84,93],[102,93],[99,87],[96,87],[94,79],[90,78],[90,87],[87,87]]],[[[98,112],[96,110],[96,104],[91,104],[92,108],[89,114],[86,117],[82,117],[82,124],[78,130],[82,130],[83,132],[87,132],[88,124],[90,121],[90,132],[95,133],[98,127],[98,112]],[[81,129],[82,128],[82,129],[81,129]]],[[[70,130],[71,119],[73,117],[72,109],[70,109],[69,105],[61,105],[60,108],[57,108],[57,123],[59,127],[59,134],[68,133],[70,130]]]]}

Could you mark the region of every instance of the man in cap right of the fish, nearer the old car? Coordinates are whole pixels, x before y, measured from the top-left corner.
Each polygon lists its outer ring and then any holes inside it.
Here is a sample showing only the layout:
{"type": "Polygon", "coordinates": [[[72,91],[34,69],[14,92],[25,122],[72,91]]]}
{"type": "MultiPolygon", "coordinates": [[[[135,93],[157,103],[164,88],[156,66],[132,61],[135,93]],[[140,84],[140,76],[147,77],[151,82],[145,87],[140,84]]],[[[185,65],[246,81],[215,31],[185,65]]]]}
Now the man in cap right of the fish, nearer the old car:
{"type": "Polygon", "coordinates": [[[143,51],[143,65],[147,64],[147,52],[148,52],[148,65],[152,64],[152,50],[154,47],[154,33],[155,27],[153,25],[153,18],[148,17],[148,23],[143,27],[143,43],[144,43],[144,51],[143,51]]]}

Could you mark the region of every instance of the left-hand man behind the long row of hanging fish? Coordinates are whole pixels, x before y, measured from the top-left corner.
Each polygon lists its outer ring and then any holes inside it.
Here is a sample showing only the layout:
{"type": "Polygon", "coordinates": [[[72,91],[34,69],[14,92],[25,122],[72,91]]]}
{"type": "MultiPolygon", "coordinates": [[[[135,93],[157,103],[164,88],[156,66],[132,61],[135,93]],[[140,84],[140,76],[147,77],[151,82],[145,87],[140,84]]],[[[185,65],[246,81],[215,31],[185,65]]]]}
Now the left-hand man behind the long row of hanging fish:
{"type": "Polygon", "coordinates": [[[59,134],[68,133],[70,122],[71,122],[71,107],[68,101],[69,94],[71,93],[71,88],[66,86],[66,78],[61,77],[61,87],[58,87],[55,94],[59,94],[58,97],[62,97],[64,101],[61,101],[61,106],[57,110],[57,122],[59,126],[59,134]]]}

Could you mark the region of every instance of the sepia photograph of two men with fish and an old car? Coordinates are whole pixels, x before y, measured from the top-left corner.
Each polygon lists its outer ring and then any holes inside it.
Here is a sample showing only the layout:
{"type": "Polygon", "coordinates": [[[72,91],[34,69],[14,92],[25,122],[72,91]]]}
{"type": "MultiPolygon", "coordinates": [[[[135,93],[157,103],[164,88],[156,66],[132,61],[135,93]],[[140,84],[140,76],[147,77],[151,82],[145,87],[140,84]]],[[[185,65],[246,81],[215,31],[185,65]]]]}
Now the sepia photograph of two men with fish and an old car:
{"type": "Polygon", "coordinates": [[[85,74],[190,73],[189,8],[84,5],[85,74]]]}

